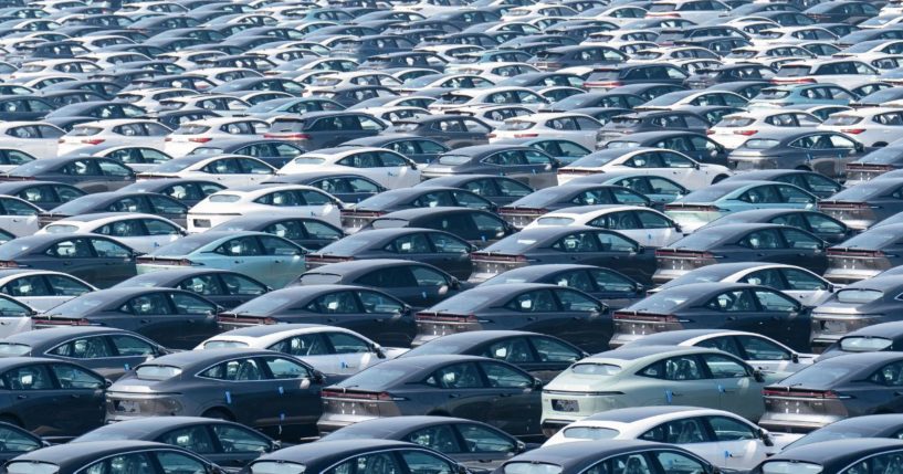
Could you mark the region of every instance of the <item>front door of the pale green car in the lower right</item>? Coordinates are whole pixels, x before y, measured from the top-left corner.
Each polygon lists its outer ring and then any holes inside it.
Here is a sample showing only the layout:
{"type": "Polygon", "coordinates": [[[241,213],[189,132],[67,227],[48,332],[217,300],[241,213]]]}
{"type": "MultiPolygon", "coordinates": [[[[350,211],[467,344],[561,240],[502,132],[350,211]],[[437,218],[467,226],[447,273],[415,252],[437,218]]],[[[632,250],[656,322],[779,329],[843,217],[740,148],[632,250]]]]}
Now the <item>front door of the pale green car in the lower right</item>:
{"type": "Polygon", "coordinates": [[[765,411],[763,383],[756,381],[753,369],[739,360],[720,354],[703,354],[710,373],[710,390],[717,393],[720,408],[747,420],[758,420],[765,411]]]}

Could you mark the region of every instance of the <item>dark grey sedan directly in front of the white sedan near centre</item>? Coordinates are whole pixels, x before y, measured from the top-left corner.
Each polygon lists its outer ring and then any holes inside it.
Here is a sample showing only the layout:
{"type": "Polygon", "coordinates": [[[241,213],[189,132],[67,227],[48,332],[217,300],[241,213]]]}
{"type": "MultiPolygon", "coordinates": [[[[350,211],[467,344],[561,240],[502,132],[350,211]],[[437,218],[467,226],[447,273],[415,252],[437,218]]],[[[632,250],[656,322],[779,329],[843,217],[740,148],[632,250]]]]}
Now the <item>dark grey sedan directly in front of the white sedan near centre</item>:
{"type": "Polygon", "coordinates": [[[484,282],[512,268],[581,263],[616,270],[640,283],[650,283],[655,255],[637,241],[607,229],[567,225],[523,230],[471,254],[470,282],[484,282]]]}

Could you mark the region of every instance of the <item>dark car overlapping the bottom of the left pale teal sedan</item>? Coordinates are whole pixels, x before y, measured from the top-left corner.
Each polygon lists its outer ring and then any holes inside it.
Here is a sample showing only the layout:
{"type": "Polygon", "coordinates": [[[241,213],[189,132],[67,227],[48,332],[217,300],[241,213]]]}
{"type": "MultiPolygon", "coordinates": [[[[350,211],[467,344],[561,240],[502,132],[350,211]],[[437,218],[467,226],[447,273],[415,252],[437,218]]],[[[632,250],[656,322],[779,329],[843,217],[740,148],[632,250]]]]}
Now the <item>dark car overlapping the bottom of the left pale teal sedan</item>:
{"type": "Polygon", "coordinates": [[[144,273],[122,282],[115,287],[185,289],[201,295],[227,309],[248,303],[272,291],[263,283],[241,273],[202,267],[144,273]]]}

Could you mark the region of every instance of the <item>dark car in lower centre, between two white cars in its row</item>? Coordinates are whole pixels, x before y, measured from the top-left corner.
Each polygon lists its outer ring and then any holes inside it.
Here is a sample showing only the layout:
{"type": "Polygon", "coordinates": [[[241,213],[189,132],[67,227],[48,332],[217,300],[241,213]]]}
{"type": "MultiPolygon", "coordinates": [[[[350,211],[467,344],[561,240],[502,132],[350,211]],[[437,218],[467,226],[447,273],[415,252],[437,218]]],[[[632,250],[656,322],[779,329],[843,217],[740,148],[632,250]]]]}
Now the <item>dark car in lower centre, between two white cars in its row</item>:
{"type": "Polygon", "coordinates": [[[548,382],[587,352],[563,339],[523,330],[484,329],[450,334],[418,346],[401,356],[443,354],[482,356],[513,364],[548,382]]]}

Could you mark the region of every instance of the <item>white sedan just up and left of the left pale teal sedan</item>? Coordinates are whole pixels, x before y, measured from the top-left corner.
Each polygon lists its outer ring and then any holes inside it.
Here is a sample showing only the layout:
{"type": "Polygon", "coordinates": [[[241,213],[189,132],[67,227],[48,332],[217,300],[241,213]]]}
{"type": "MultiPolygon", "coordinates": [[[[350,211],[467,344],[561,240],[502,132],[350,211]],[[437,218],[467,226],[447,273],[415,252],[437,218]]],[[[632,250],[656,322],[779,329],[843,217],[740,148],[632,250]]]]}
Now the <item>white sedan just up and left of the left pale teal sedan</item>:
{"type": "Polygon", "coordinates": [[[36,233],[96,233],[116,239],[143,253],[150,253],[188,234],[168,219],[136,212],[82,214],[52,222],[36,233]]]}

